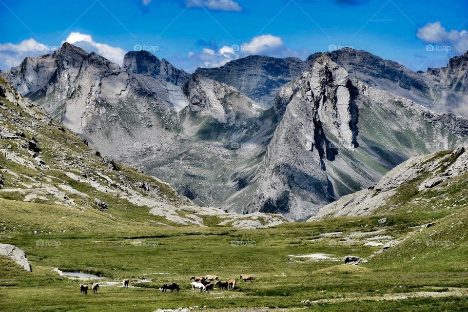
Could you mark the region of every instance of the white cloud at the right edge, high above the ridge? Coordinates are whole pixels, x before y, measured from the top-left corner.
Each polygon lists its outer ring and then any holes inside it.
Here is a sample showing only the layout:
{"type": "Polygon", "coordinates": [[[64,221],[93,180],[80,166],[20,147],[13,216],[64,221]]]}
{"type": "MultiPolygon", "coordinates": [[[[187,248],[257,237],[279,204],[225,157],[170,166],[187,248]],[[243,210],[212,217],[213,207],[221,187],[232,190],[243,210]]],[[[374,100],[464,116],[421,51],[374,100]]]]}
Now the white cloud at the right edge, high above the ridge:
{"type": "Polygon", "coordinates": [[[468,32],[466,30],[457,31],[453,29],[447,31],[440,21],[427,23],[418,30],[416,36],[426,43],[450,45],[459,54],[464,54],[468,50],[468,32]]]}

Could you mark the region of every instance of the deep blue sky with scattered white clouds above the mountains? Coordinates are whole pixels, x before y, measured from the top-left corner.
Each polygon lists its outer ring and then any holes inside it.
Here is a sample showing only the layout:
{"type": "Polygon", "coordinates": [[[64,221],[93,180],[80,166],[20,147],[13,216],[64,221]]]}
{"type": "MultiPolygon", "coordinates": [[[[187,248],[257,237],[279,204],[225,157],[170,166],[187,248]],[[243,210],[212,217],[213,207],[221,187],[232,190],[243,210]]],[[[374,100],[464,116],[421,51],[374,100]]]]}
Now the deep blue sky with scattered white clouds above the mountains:
{"type": "Polygon", "coordinates": [[[0,26],[0,69],[67,40],[120,64],[146,49],[189,72],[344,46],[426,70],[468,50],[468,1],[0,0],[0,26]]]}

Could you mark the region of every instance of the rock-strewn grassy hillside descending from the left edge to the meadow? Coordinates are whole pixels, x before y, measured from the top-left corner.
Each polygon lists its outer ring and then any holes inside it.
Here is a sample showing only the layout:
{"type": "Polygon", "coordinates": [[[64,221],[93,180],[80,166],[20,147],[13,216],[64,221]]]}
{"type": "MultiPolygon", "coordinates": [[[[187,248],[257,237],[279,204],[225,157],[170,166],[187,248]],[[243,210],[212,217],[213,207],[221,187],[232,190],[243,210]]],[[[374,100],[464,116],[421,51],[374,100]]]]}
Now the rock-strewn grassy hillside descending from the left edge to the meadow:
{"type": "MultiPolygon", "coordinates": [[[[74,211],[98,224],[139,222],[154,226],[219,225],[262,228],[280,216],[236,215],[195,206],[168,184],[101,156],[87,142],[0,78],[0,198],[28,202],[51,215],[74,211]]],[[[31,204],[28,207],[33,207],[31,204]]],[[[48,215],[44,213],[44,215],[48,215]]],[[[13,230],[14,224],[2,220],[13,230]]],[[[54,222],[51,220],[51,222],[54,222]]],[[[61,222],[58,222],[61,223],[61,222]]],[[[88,224],[87,224],[88,225],[88,224]]],[[[79,222],[78,222],[78,225],[79,222]]],[[[99,225],[100,226],[100,225],[99,225]]],[[[7,228],[5,228],[7,229],[7,228]]],[[[45,230],[44,230],[45,231],[45,230]]]]}

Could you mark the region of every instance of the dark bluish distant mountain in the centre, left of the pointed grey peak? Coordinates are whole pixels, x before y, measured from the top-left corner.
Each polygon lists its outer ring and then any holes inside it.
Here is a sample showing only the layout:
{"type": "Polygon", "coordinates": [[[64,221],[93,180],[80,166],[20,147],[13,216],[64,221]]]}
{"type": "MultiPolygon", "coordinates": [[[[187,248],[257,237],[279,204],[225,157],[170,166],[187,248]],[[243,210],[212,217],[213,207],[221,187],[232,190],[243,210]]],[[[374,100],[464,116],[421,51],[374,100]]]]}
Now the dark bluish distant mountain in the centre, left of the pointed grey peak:
{"type": "Polygon", "coordinates": [[[195,73],[232,85],[264,108],[270,108],[276,93],[309,69],[309,64],[300,59],[249,56],[219,68],[197,68],[195,73]]]}

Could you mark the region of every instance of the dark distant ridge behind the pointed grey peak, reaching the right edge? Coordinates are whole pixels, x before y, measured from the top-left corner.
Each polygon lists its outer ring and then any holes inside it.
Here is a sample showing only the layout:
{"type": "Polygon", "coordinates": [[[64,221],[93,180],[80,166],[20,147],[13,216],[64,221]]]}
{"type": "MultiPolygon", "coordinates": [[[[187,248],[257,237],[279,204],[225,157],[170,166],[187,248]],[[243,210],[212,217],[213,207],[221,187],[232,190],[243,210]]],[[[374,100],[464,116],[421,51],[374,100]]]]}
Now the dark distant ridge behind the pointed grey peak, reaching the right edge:
{"type": "MultiPolygon", "coordinates": [[[[370,86],[413,100],[438,113],[468,117],[468,52],[449,60],[447,67],[413,72],[403,65],[366,51],[344,48],[330,58],[345,68],[351,77],[370,86]]],[[[321,54],[312,54],[307,62],[321,54]]]]}

